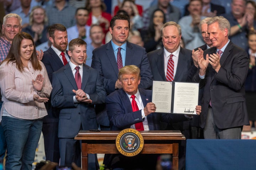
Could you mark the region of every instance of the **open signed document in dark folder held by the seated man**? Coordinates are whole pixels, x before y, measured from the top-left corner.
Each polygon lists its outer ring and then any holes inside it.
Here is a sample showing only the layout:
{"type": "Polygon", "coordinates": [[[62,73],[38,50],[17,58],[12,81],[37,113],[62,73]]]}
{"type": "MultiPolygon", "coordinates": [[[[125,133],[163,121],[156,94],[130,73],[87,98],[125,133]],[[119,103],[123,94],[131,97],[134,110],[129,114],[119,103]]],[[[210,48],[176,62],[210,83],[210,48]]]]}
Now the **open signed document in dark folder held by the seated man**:
{"type": "Polygon", "coordinates": [[[198,83],[153,81],[152,102],[156,112],[196,114],[198,83]]]}

